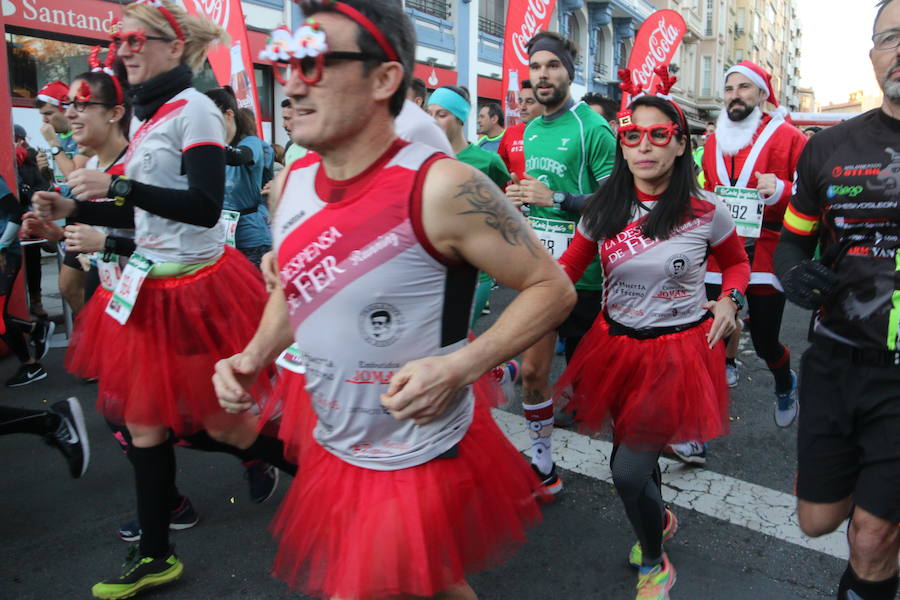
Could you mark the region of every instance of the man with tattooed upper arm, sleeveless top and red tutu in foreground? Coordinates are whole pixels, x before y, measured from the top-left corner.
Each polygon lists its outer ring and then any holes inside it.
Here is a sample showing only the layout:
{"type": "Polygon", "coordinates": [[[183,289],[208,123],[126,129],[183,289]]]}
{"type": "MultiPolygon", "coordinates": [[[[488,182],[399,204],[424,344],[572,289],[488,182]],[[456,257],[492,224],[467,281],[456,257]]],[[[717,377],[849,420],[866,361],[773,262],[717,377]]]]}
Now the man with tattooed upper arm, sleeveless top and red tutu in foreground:
{"type": "Polygon", "coordinates": [[[485,372],[575,295],[488,178],[396,137],[415,51],[399,4],[302,8],[292,37],[313,41],[288,47],[285,92],[315,154],[294,164],[274,215],[281,289],[245,350],[217,365],[216,389],[244,410],[259,369],[292,342],[302,355],[306,390],[280,398],[285,420],[312,418],[281,429],[303,476],[273,525],[277,576],[325,598],[472,599],[467,573],[524,541],[542,493],[473,384],[489,387],[485,372]],[[347,60],[317,61],[326,48],[347,60]],[[521,293],[469,343],[479,268],[521,293]]]}

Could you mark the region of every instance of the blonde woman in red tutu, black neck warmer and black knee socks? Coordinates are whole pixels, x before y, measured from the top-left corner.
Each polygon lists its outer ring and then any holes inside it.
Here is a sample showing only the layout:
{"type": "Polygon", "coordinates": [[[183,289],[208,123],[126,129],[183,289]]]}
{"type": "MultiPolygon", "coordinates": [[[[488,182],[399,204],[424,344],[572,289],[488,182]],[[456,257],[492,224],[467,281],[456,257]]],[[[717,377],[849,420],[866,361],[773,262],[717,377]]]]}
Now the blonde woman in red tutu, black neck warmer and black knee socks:
{"type": "Polygon", "coordinates": [[[225,246],[225,129],[215,104],[191,87],[193,70],[222,37],[168,0],[124,7],[113,34],[135,115],[124,175],[81,169],[68,179],[78,201],[35,195],[44,220],[135,228],[129,266],[114,292],[98,289],[79,315],[67,358],[76,374],[99,379],[98,410],[132,438],[142,537],[121,574],[94,586],[98,598],[130,597],[181,575],[168,540],[170,431],[208,430],[291,470],[281,443],[257,436],[252,416],[221,409],[208,375],[252,337],[266,301],[259,272],[225,246]],[[90,201],[97,198],[114,201],[90,201]]]}

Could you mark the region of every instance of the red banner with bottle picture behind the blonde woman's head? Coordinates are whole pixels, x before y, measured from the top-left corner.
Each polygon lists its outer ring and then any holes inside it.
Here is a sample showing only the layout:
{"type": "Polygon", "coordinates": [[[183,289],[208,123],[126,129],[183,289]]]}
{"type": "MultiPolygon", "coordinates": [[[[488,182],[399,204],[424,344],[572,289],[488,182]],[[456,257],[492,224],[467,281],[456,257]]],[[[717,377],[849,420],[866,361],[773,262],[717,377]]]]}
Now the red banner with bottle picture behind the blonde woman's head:
{"type": "Polygon", "coordinates": [[[219,85],[230,85],[237,96],[238,108],[249,108],[256,115],[256,134],[262,138],[256,77],[241,0],[184,0],[194,15],[206,17],[231,36],[230,45],[215,45],[209,50],[209,64],[219,85]]]}

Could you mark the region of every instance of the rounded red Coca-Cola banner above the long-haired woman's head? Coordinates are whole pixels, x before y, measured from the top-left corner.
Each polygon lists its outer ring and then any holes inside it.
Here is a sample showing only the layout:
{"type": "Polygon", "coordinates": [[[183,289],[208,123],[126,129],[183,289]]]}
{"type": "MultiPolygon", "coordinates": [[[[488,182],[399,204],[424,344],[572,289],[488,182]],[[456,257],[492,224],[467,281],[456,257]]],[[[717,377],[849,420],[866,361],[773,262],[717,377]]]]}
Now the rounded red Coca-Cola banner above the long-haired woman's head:
{"type": "MultiPolygon", "coordinates": [[[[654,70],[672,62],[686,31],[684,19],[674,10],[658,10],[641,25],[634,38],[628,68],[642,90],[650,93],[656,88],[659,75],[654,70]]],[[[630,102],[631,95],[623,93],[622,108],[627,107],[630,102]]]]}

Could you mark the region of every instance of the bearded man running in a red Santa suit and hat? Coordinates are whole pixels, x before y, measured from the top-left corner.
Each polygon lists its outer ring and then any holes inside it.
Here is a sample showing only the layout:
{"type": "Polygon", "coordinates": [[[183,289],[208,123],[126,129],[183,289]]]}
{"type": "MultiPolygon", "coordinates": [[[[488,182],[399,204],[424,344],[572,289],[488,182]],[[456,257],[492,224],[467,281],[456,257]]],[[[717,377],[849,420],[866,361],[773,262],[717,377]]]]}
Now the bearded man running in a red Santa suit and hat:
{"type": "MultiPolygon", "coordinates": [[[[778,244],[784,211],[791,198],[794,175],[804,136],[783,118],[783,111],[764,114],[766,101],[778,106],[771,75],[758,65],[743,61],[725,74],[725,110],[703,153],[705,188],[752,188],[764,204],[758,238],[745,237],[752,272],[747,291],[750,337],[756,354],[775,377],[775,422],[787,427],[797,416],[797,378],[791,371],[790,351],[779,341],[784,294],[774,274],[772,257],[778,244]]],[[[754,207],[750,207],[750,212],[754,207]]],[[[740,221],[742,207],[733,206],[740,221]]],[[[707,283],[720,286],[721,273],[710,261],[707,283]]]]}

